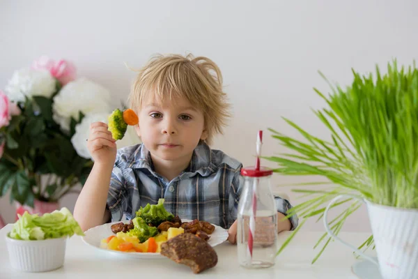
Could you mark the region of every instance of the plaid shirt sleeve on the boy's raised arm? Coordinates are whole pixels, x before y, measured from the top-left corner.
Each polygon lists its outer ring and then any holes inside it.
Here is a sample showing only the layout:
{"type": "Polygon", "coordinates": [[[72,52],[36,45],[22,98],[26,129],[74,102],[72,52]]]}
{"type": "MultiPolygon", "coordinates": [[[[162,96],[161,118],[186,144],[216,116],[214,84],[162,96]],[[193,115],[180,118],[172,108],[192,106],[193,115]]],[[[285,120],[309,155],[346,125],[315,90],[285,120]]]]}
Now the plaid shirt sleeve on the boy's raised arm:
{"type": "Polygon", "coordinates": [[[107,194],[107,209],[111,213],[111,221],[120,221],[127,210],[127,190],[123,172],[117,161],[111,172],[109,193],[107,194]]]}

